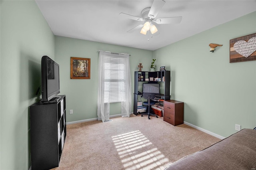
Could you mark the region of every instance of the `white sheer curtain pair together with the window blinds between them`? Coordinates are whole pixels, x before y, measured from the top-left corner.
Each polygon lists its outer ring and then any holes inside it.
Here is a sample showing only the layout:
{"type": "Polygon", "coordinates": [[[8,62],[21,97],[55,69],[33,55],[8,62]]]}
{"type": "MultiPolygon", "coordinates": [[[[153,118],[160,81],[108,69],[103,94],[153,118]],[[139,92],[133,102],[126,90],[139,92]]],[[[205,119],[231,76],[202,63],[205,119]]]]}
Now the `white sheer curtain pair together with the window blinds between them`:
{"type": "Polygon", "coordinates": [[[98,120],[109,120],[109,105],[112,102],[121,102],[122,117],[130,117],[132,90],[129,55],[99,53],[98,120]]]}

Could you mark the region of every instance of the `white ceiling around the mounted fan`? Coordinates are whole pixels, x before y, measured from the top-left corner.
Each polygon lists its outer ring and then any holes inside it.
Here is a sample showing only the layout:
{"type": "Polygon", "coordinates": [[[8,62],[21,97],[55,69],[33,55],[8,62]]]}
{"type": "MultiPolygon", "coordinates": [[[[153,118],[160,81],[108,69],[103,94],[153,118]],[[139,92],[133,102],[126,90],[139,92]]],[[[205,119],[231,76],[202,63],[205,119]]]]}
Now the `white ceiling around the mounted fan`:
{"type": "Polygon", "coordinates": [[[153,0],[36,0],[54,35],[155,50],[256,11],[256,0],[165,0],[156,18],[182,16],[180,24],[156,24],[159,34],[128,30],[153,0]],[[149,38],[149,41],[148,41],[149,38]]]}

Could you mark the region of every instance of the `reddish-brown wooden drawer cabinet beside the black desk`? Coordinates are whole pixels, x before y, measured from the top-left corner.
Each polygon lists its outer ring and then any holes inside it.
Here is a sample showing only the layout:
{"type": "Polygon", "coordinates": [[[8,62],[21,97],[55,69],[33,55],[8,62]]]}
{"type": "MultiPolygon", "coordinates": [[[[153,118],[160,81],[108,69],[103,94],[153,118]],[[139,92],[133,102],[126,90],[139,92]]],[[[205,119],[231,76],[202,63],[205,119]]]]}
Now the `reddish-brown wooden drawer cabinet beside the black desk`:
{"type": "Polygon", "coordinates": [[[184,103],[175,100],[164,101],[164,121],[177,126],[184,121],[184,103]]]}

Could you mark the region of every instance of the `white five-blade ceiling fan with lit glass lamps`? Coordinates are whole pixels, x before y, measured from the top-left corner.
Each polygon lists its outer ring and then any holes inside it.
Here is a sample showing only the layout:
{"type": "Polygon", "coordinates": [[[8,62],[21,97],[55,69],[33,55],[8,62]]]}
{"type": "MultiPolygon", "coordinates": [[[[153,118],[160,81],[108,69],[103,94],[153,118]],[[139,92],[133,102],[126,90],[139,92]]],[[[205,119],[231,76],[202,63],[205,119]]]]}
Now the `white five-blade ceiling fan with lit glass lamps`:
{"type": "Polygon", "coordinates": [[[129,33],[134,32],[135,30],[142,28],[140,30],[141,34],[146,35],[149,30],[150,30],[151,34],[154,34],[158,31],[156,26],[154,25],[154,23],[156,23],[156,24],[178,24],[182,20],[182,16],[156,19],[158,12],[160,12],[160,10],[164,6],[164,4],[165,4],[164,0],[154,0],[151,7],[144,8],[141,11],[142,18],[137,17],[137,16],[132,16],[130,14],[125,14],[122,12],[119,14],[119,16],[122,16],[123,18],[129,18],[132,20],[136,20],[136,21],[144,21],[144,24],[140,24],[140,25],[128,30],[127,32],[129,32],[129,33]]]}

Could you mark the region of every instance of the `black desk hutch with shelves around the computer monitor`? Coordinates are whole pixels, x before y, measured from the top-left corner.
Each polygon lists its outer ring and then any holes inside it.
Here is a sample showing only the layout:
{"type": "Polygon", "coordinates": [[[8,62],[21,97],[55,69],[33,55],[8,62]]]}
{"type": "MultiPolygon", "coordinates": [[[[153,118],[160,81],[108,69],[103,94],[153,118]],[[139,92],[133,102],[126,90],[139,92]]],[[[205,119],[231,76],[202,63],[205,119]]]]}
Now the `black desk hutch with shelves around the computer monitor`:
{"type": "Polygon", "coordinates": [[[142,84],[143,83],[159,83],[160,84],[160,96],[161,99],[170,100],[170,71],[135,71],[134,72],[134,104],[133,104],[133,114],[137,113],[137,102],[138,96],[142,95],[142,84]],[[151,77],[151,79],[150,79],[151,77]],[[158,81],[154,81],[155,79],[158,81]],[[153,81],[152,81],[153,80],[153,81]],[[141,93],[138,93],[138,92],[141,93]]]}

